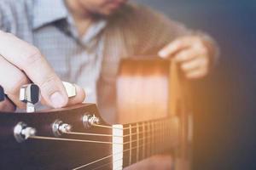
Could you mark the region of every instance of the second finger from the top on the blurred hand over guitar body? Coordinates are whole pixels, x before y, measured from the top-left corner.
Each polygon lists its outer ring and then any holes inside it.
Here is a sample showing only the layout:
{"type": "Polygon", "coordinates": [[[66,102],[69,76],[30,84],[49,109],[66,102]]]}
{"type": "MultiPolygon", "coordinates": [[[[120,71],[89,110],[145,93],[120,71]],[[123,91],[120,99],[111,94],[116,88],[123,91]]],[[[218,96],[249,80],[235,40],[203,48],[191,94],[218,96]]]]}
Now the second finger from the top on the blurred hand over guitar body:
{"type": "Polygon", "coordinates": [[[195,59],[199,55],[200,54],[198,54],[194,49],[186,49],[186,50],[182,50],[179,53],[177,53],[174,56],[174,59],[177,62],[186,62],[186,61],[189,61],[191,59],[195,59]]]}

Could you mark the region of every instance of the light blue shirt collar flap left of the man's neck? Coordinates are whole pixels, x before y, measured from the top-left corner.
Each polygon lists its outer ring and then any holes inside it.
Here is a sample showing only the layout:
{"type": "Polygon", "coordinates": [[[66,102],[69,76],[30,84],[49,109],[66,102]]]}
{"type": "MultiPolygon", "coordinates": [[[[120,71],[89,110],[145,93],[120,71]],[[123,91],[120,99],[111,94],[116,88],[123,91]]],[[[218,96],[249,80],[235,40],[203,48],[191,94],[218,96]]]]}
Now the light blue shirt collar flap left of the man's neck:
{"type": "Polygon", "coordinates": [[[67,19],[68,12],[63,0],[35,0],[33,5],[34,30],[56,20],[67,19]]]}

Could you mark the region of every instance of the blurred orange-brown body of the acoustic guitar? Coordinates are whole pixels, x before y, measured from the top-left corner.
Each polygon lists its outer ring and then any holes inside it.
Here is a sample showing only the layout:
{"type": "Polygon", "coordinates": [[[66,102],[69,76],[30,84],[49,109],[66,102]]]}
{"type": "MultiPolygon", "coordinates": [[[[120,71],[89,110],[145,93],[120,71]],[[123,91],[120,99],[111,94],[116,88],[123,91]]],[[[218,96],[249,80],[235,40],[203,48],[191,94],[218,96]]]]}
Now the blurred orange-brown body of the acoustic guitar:
{"type": "Polygon", "coordinates": [[[172,150],[176,170],[188,170],[190,167],[192,115],[186,105],[187,95],[175,61],[143,56],[123,59],[120,63],[117,78],[118,122],[165,117],[177,119],[179,144],[172,150]]]}

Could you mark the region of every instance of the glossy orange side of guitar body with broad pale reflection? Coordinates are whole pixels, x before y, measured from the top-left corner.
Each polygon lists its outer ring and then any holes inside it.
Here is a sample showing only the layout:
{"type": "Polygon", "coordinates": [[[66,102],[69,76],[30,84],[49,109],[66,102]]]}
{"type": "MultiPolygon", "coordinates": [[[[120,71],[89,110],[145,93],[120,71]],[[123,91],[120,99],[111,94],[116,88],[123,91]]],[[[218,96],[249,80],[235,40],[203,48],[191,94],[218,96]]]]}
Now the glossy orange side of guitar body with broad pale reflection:
{"type": "Polygon", "coordinates": [[[167,116],[169,67],[169,62],[162,59],[134,59],[121,64],[117,78],[120,123],[167,116]]]}

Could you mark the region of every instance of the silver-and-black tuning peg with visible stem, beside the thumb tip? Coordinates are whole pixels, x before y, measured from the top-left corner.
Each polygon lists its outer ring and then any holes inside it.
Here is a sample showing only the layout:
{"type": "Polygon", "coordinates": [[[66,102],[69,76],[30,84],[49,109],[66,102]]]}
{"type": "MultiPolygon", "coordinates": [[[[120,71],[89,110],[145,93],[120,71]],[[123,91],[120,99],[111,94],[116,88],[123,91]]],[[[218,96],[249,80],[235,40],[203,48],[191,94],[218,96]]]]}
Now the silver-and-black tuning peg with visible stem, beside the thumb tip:
{"type": "Polygon", "coordinates": [[[26,112],[34,112],[39,100],[39,88],[36,84],[26,84],[20,88],[20,101],[26,103],[26,112]]]}

